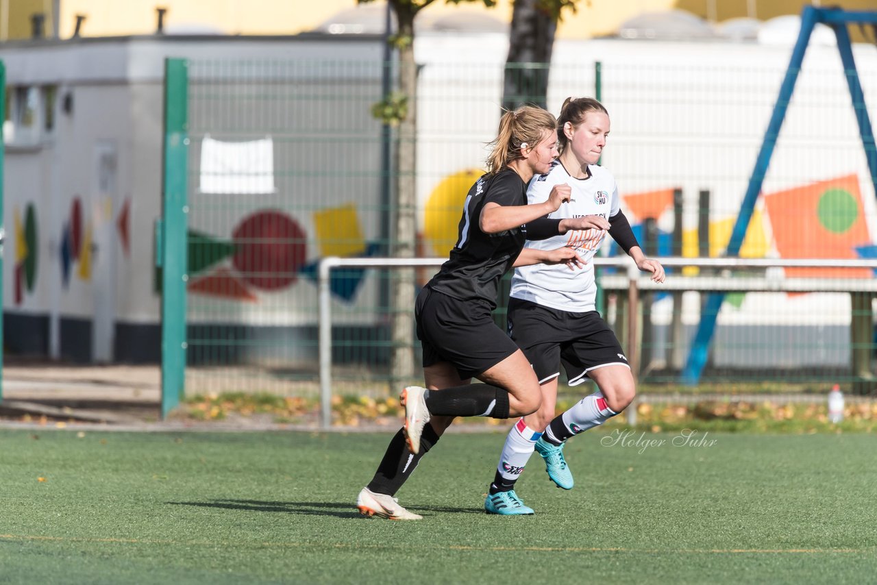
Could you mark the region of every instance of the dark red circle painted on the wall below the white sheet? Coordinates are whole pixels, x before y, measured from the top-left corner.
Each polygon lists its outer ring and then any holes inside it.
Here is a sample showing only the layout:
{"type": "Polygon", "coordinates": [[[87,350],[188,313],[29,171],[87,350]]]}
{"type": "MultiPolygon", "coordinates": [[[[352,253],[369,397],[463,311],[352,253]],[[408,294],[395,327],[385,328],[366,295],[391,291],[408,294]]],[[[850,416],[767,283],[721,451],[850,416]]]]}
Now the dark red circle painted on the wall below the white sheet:
{"type": "Polygon", "coordinates": [[[294,219],[281,211],[258,211],[240,222],[232,239],[237,248],[232,264],[246,282],[264,290],[296,282],[306,248],[304,231],[294,219]]]}

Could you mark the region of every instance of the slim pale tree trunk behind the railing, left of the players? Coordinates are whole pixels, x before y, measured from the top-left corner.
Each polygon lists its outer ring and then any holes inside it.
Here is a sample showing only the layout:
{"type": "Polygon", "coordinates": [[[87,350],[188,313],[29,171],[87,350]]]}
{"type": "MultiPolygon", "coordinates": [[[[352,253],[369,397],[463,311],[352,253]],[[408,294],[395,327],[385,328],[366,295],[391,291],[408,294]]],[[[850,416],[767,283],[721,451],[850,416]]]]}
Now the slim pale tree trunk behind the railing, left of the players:
{"type": "MultiPolygon", "coordinates": [[[[414,39],[416,10],[410,4],[394,3],[400,37],[414,39]]],[[[399,144],[396,148],[396,223],[393,248],[397,258],[413,258],[417,232],[417,193],[415,190],[417,136],[417,64],[414,44],[399,48],[399,89],[408,97],[408,115],[399,123],[399,144]]],[[[414,376],[414,269],[391,271],[396,275],[391,286],[390,382],[399,383],[414,376]]]]}

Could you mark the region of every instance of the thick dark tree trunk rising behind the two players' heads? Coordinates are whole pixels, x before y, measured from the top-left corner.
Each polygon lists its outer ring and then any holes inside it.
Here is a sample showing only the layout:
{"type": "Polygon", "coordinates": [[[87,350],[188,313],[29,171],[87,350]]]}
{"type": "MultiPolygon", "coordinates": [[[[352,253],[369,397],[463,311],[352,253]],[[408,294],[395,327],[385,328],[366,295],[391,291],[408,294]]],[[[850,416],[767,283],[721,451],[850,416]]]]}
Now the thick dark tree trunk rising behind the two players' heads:
{"type": "Polygon", "coordinates": [[[538,0],[515,0],[505,61],[503,109],[524,103],[547,106],[548,66],[557,20],[538,8],[538,0]]]}

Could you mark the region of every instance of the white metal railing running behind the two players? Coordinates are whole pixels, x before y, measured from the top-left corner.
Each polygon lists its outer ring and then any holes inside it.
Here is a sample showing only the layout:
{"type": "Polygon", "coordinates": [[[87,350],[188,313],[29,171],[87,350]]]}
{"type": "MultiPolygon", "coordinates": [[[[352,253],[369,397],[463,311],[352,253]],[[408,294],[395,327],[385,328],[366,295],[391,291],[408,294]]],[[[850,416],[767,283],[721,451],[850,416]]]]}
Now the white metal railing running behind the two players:
{"type": "MultiPolygon", "coordinates": [[[[319,379],[320,379],[320,425],[332,426],[332,294],[330,273],[335,268],[438,268],[446,258],[339,258],[329,256],[320,260],[317,270],[319,289],[319,379]]],[[[625,268],[627,275],[602,275],[600,286],[610,291],[627,290],[631,312],[638,303],[639,290],[705,292],[774,291],[774,292],[874,292],[877,279],[825,279],[785,278],[782,275],[759,275],[749,278],[731,278],[723,275],[732,269],[752,268],[870,268],[877,269],[877,260],[826,260],[826,259],[766,259],[766,258],[681,258],[666,257],[657,260],[665,268],[712,268],[717,275],[672,275],[666,282],[652,282],[646,273],[638,270],[627,256],[613,258],[595,257],[597,267],[625,268]]],[[[628,326],[636,326],[636,319],[628,319],[628,326]]],[[[628,332],[629,339],[636,339],[635,331],[628,332]]],[[[634,348],[629,347],[628,353],[634,348]]],[[[630,357],[630,355],[629,355],[630,357]]],[[[632,367],[632,366],[631,366],[632,367]]]]}

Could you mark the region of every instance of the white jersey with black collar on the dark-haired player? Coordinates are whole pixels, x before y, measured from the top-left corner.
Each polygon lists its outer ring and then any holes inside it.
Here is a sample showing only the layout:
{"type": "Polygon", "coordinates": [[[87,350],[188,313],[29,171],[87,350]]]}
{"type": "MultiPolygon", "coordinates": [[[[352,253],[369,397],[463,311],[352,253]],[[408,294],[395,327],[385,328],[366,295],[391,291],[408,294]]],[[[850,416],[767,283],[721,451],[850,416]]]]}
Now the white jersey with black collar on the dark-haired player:
{"type": "MultiPolygon", "coordinates": [[[[554,161],[547,175],[536,175],[527,188],[527,203],[543,203],[554,185],[567,183],[572,188],[569,203],[549,218],[580,218],[600,215],[605,219],[621,209],[615,178],[608,170],[588,165],[590,176],[575,179],[567,173],[560,161],[554,161]]],[[[525,247],[537,250],[556,250],[562,246],[574,248],[584,268],[570,270],[566,264],[534,264],[515,268],[511,279],[510,296],[558,310],[574,313],[595,310],[597,287],[594,278],[594,255],[606,236],[606,230],[590,228],[559,234],[549,239],[527,240],[525,247]]]]}

